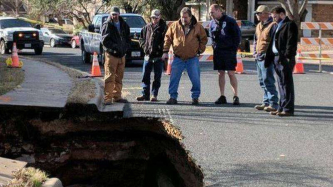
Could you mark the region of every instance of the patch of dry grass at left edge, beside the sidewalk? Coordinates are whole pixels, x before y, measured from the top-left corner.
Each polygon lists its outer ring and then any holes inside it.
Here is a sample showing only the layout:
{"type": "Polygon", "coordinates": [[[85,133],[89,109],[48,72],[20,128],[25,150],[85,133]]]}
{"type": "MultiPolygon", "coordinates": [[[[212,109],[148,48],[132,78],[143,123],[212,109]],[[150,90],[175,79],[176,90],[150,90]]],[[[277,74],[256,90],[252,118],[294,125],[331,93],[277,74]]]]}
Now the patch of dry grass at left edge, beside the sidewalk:
{"type": "Polygon", "coordinates": [[[0,56],[0,95],[3,95],[20,84],[24,80],[24,71],[21,68],[8,68],[5,60],[8,56],[0,56]]]}

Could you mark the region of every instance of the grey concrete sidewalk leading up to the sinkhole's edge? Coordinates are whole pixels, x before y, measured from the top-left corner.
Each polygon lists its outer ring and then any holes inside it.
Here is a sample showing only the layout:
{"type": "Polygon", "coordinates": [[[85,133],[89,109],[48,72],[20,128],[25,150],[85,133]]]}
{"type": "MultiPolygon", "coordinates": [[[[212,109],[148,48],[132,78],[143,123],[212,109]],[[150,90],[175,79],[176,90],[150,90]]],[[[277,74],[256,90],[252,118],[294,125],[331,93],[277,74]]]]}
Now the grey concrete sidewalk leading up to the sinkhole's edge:
{"type": "Polygon", "coordinates": [[[73,84],[68,74],[44,62],[23,62],[24,82],[0,96],[0,105],[64,107],[73,84]]]}

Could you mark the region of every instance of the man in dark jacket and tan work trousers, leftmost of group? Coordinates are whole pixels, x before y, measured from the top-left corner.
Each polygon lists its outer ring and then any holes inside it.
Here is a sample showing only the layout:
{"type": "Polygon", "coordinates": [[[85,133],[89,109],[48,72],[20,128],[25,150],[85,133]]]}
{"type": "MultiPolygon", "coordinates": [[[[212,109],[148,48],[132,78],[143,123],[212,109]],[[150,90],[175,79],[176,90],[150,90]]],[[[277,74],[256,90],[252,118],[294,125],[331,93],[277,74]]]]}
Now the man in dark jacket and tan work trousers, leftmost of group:
{"type": "Polygon", "coordinates": [[[111,8],[111,15],[102,26],[102,44],[105,51],[104,103],[127,102],[122,98],[125,54],[130,47],[130,27],[119,16],[117,6],[111,8]]]}

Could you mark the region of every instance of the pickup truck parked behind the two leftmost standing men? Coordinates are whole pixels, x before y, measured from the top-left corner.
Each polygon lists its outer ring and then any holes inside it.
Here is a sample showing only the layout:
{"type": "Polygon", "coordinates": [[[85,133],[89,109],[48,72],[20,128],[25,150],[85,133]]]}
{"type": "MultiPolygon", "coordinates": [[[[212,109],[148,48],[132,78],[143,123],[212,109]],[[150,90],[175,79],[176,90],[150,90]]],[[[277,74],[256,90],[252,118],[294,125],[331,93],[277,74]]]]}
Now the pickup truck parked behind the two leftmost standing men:
{"type": "MultiPolygon", "coordinates": [[[[104,51],[101,43],[102,34],[101,27],[103,23],[108,19],[110,14],[96,14],[93,22],[88,26],[88,30],[82,30],[80,32],[80,48],[82,54],[82,62],[90,63],[91,54],[97,52],[101,57],[101,62],[104,63],[104,51]]],[[[126,62],[140,61],[143,62],[144,52],[139,45],[138,39],[140,37],[141,29],[146,25],[145,20],[139,14],[134,13],[123,13],[120,16],[126,21],[130,26],[131,31],[131,47],[126,52],[126,62]]]]}

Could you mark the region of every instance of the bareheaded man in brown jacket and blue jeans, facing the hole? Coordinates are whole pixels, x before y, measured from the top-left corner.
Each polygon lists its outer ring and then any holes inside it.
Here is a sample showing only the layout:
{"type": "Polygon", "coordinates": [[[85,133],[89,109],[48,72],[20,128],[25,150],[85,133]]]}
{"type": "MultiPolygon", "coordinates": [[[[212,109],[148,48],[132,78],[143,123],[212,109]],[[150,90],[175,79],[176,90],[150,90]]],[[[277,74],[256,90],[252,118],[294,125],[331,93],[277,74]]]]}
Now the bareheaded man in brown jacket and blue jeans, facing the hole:
{"type": "Polygon", "coordinates": [[[163,56],[167,58],[170,46],[173,46],[174,60],[171,65],[169,83],[170,99],[167,104],[176,104],[178,86],[181,75],[186,68],[192,82],[192,104],[199,104],[200,96],[200,65],[198,55],[206,49],[207,35],[203,26],[192,16],[191,9],[184,7],[181,18],[170,25],[165,34],[163,56]]]}

